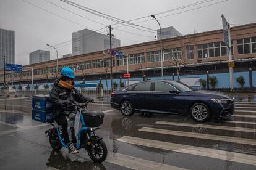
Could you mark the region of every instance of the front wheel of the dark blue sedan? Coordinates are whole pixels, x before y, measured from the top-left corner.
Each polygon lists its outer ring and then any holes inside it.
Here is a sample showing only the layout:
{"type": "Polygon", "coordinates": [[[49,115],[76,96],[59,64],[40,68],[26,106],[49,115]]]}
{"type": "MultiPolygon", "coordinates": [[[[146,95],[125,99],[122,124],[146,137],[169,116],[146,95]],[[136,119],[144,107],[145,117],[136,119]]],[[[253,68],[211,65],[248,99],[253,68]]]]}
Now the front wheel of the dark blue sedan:
{"type": "Polygon", "coordinates": [[[190,108],[190,116],[198,122],[207,121],[210,118],[210,109],[203,103],[195,103],[190,108]]]}

